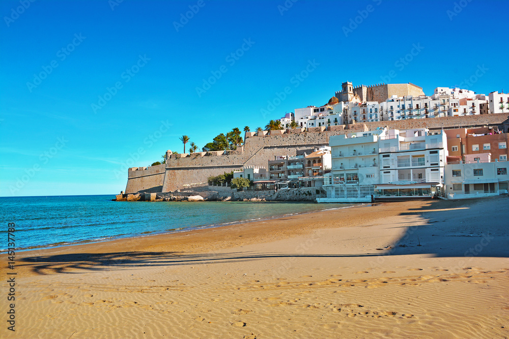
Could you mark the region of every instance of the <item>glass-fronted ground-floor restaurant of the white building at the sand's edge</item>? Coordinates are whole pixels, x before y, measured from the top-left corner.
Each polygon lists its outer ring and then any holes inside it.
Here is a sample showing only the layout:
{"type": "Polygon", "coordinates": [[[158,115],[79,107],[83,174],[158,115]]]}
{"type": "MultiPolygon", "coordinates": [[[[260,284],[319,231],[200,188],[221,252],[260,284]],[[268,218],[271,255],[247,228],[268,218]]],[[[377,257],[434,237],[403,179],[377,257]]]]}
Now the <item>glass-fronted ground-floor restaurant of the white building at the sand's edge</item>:
{"type": "Polygon", "coordinates": [[[437,194],[440,182],[416,182],[399,180],[375,185],[375,200],[420,200],[432,199],[437,194]]]}

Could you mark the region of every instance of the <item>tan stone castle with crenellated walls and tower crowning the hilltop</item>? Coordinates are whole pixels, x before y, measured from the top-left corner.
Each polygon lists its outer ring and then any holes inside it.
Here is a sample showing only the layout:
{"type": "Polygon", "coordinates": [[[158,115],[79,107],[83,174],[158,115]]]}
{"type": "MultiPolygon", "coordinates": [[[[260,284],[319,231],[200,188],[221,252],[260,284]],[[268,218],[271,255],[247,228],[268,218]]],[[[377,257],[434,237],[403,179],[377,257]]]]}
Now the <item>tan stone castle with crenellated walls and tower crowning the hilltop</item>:
{"type": "Polygon", "coordinates": [[[379,83],[376,85],[365,86],[360,85],[354,87],[350,81],[343,82],[341,92],[336,91],[335,97],[341,101],[353,102],[384,102],[392,96],[406,97],[424,96],[422,87],[411,82],[409,83],[379,83]]]}

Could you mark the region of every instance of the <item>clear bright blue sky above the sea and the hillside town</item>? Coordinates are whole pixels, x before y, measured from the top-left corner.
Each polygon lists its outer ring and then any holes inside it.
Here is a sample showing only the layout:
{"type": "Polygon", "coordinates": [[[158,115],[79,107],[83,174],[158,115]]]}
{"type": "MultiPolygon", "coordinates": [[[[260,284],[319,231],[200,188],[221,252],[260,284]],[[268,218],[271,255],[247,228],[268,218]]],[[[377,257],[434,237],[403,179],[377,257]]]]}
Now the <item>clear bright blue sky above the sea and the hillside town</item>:
{"type": "Polygon", "coordinates": [[[201,149],[323,105],[347,80],[506,92],[508,12],[478,0],[3,0],[0,196],[118,194],[128,167],[182,152],[183,134],[201,149]]]}

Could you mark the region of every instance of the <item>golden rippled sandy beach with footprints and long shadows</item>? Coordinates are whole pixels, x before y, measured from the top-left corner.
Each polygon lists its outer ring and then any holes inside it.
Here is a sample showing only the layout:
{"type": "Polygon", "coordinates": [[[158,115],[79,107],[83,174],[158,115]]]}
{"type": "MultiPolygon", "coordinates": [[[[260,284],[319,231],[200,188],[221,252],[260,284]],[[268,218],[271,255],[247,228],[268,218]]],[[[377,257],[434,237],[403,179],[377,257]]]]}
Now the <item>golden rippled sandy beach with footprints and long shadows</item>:
{"type": "Polygon", "coordinates": [[[384,203],[20,252],[15,332],[3,302],[0,336],[507,338],[508,203],[384,203]]]}

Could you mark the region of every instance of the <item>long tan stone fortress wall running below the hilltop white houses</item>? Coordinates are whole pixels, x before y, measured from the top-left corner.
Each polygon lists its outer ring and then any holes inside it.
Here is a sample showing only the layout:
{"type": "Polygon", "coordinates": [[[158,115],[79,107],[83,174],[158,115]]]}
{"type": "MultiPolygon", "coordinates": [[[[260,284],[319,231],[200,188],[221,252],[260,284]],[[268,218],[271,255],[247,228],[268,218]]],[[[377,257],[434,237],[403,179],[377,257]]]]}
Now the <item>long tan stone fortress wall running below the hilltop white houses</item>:
{"type": "MultiPolygon", "coordinates": [[[[467,127],[497,126],[505,123],[509,113],[407,119],[399,121],[366,122],[364,124],[318,127],[293,130],[246,133],[244,146],[235,151],[197,152],[174,155],[167,152],[166,163],[150,167],[133,167],[128,170],[125,193],[172,192],[185,184],[207,182],[210,176],[241,169],[244,165],[267,167],[275,156],[295,156],[297,150],[306,150],[329,143],[331,135],[372,131],[377,127],[389,129],[428,128],[430,130],[467,127]]],[[[505,130],[507,127],[505,127],[505,130]]]]}

